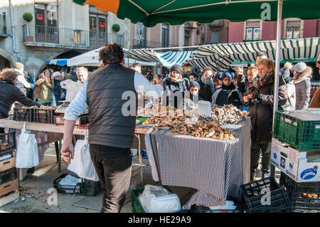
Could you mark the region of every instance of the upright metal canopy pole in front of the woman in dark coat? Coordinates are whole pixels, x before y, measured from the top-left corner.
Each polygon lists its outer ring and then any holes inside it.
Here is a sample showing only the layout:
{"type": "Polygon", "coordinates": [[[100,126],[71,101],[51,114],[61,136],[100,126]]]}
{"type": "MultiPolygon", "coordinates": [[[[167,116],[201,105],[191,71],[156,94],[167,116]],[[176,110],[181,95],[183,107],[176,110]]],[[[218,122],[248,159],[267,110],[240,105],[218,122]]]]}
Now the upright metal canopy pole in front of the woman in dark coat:
{"type": "MultiPolygon", "coordinates": [[[[273,116],[272,116],[272,132],[274,129],[274,115],[278,110],[278,96],[279,96],[279,70],[280,70],[280,41],[281,41],[281,23],[282,23],[282,0],[278,0],[277,11],[277,41],[276,41],[276,59],[274,72],[274,94],[273,94],[273,116]]],[[[275,168],[272,165],[270,169],[271,176],[275,176],[275,168]]]]}

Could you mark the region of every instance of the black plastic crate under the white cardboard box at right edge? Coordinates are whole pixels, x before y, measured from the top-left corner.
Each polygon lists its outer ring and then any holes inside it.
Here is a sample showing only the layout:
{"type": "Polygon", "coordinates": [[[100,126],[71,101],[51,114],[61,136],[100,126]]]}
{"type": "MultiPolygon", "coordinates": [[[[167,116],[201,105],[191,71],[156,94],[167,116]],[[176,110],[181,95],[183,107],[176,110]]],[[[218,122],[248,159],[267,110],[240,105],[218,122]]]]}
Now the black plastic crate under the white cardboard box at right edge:
{"type": "Polygon", "coordinates": [[[279,183],[287,189],[292,211],[320,211],[320,181],[297,183],[282,172],[279,183]],[[303,194],[317,194],[318,198],[303,194]]]}

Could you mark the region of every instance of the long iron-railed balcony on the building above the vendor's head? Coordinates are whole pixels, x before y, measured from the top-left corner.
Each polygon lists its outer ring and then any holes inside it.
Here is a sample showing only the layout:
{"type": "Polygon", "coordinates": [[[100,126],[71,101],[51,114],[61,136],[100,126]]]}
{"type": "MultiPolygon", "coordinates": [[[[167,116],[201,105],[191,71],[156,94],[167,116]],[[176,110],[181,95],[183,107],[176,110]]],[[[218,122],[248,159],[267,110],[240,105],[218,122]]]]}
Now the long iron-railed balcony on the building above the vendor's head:
{"type": "Polygon", "coordinates": [[[56,28],[24,24],[23,44],[26,46],[46,46],[53,48],[92,49],[107,43],[124,46],[124,35],[102,33],[70,28],[56,28]]]}

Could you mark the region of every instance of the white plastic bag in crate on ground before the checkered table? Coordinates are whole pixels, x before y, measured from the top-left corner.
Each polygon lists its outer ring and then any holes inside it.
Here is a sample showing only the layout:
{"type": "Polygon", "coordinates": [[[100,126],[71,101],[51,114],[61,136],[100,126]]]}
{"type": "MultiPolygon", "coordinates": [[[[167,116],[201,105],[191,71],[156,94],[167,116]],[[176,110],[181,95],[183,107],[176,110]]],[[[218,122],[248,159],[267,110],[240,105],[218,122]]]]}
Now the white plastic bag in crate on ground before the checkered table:
{"type": "Polygon", "coordinates": [[[162,186],[147,184],[138,199],[146,213],[173,213],[181,210],[178,196],[162,186]]]}

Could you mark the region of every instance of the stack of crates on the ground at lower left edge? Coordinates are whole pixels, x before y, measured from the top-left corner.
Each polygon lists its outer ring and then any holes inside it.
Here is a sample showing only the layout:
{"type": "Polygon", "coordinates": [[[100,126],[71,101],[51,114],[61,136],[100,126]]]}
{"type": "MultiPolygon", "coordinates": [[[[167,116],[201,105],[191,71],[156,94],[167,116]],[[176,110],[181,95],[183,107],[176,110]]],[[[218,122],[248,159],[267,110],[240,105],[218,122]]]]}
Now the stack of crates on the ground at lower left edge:
{"type": "Polygon", "coordinates": [[[0,134],[0,206],[19,198],[15,149],[16,132],[0,134]]]}

